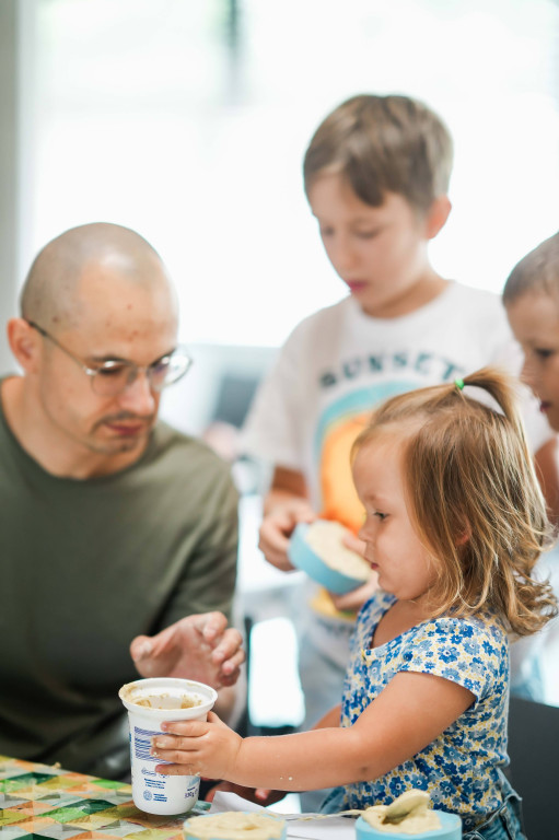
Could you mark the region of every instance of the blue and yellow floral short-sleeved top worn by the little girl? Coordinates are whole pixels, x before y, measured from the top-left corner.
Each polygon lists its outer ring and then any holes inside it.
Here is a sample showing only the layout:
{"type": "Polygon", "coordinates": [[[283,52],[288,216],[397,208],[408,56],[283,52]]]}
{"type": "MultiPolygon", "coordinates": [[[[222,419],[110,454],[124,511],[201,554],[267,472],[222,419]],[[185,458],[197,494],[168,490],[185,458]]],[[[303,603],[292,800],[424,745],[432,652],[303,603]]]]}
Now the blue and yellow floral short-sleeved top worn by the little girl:
{"type": "Polygon", "coordinates": [[[361,609],[341,702],[351,726],[400,670],[433,674],[475,695],[475,702],[426,749],[371,782],[349,784],[343,806],[389,804],[410,788],[428,791],[433,806],[458,814],[468,830],[503,805],[506,756],[509,645],[500,622],[482,618],[429,619],[371,649],[374,630],[394,604],[376,593],[361,609]]]}

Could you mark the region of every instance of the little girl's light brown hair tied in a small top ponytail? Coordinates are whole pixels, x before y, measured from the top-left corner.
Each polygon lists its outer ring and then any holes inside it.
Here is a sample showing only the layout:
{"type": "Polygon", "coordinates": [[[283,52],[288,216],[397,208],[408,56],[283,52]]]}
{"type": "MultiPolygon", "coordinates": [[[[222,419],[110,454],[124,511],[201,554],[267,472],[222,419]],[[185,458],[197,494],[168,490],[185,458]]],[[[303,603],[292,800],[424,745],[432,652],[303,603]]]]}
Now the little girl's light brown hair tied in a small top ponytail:
{"type": "Polygon", "coordinates": [[[532,576],[550,527],[513,381],[487,368],[457,383],[389,399],[352,455],[404,432],[410,517],[433,562],[444,563],[433,615],[491,610],[506,630],[528,635],[557,614],[557,602],[549,584],[532,576]]]}

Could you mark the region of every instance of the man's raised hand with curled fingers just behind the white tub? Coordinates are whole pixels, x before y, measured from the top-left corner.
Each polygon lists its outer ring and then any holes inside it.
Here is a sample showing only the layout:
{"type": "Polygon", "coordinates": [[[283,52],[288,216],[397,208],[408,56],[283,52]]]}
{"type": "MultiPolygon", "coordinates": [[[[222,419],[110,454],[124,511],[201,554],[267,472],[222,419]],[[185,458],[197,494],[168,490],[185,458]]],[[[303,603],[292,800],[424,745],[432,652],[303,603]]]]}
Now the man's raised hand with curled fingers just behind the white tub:
{"type": "Polygon", "coordinates": [[[156,635],[137,635],[130,655],[142,677],[182,677],[233,686],[245,660],[238,630],[222,612],[187,616],[156,635]]]}

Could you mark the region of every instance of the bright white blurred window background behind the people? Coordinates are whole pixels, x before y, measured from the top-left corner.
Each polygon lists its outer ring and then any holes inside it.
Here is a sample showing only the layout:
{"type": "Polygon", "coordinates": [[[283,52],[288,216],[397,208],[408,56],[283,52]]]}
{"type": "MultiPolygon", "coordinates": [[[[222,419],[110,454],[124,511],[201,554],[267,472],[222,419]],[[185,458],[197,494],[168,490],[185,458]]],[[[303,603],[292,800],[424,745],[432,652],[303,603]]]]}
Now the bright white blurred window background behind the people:
{"type": "MultiPolygon", "coordinates": [[[[446,120],[454,210],[432,246],[443,275],[499,292],[558,228],[552,0],[38,0],[38,9],[32,250],[96,220],[154,244],[178,284],[182,337],[202,359],[165,404],[189,431],[208,422],[223,364],[259,374],[303,316],[343,294],[301,161],[346,97],[411,94],[446,120]]],[[[253,557],[257,520],[254,509],[253,557]]],[[[296,719],[299,700],[282,702],[278,714],[296,719]]]]}

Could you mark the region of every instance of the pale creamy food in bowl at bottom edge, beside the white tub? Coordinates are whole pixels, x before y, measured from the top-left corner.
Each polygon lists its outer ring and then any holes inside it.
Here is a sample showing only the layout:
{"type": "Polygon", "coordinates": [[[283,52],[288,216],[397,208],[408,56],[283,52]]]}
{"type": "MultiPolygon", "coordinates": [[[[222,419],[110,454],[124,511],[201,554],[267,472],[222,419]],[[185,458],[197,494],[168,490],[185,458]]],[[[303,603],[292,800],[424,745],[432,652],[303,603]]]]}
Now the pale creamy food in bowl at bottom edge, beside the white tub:
{"type": "Polygon", "coordinates": [[[225,810],[190,817],[183,824],[185,840],[286,840],[286,820],[270,814],[225,810]]]}

